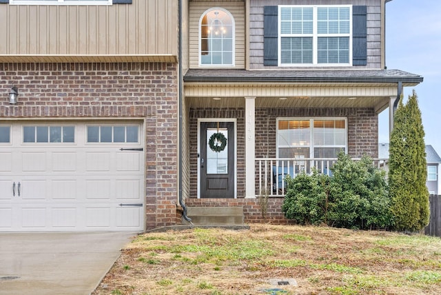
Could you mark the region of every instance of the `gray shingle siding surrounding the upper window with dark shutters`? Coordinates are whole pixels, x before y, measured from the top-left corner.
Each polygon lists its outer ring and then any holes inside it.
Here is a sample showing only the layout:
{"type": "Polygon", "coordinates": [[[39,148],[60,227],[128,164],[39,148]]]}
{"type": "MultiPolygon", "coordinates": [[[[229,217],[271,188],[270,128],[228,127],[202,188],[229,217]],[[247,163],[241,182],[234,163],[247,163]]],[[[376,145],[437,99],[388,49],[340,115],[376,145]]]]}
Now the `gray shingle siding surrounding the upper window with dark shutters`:
{"type": "MultiPolygon", "coordinates": [[[[277,5],[336,5],[367,6],[367,65],[354,68],[380,69],[382,57],[381,0],[251,0],[249,11],[249,68],[271,69],[263,65],[263,8],[277,5]]],[[[327,67],[329,69],[329,67],[327,67]]],[[[339,69],[342,69],[339,67],[339,69]]]]}

